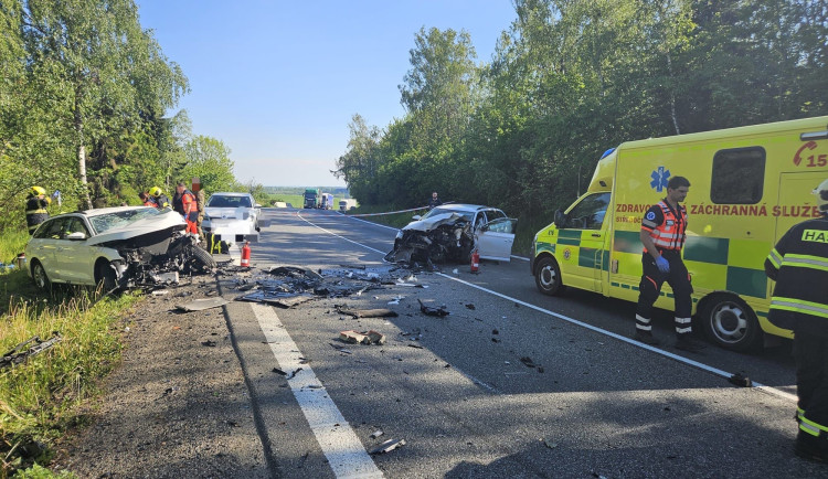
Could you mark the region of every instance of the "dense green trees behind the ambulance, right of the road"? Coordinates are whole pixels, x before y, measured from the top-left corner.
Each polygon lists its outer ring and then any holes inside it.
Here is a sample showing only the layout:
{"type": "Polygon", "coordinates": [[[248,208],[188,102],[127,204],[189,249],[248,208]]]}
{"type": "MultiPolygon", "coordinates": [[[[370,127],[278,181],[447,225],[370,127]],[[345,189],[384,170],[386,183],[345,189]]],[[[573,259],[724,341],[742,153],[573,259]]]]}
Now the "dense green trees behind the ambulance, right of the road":
{"type": "Polygon", "coordinates": [[[423,28],[402,118],[359,114],[332,172],[362,204],[538,217],[623,141],[828,114],[827,0],[513,0],[488,62],[423,28]]]}

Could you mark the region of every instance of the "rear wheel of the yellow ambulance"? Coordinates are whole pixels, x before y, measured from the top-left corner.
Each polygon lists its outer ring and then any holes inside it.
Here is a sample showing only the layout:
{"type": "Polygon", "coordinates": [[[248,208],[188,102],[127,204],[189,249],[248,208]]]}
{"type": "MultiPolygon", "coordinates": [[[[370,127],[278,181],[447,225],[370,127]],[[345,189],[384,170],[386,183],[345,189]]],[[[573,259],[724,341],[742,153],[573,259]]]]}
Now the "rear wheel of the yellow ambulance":
{"type": "Polygon", "coordinates": [[[708,338],[724,349],[745,352],[762,344],[756,313],[736,295],[710,296],[704,301],[700,319],[708,338]]]}

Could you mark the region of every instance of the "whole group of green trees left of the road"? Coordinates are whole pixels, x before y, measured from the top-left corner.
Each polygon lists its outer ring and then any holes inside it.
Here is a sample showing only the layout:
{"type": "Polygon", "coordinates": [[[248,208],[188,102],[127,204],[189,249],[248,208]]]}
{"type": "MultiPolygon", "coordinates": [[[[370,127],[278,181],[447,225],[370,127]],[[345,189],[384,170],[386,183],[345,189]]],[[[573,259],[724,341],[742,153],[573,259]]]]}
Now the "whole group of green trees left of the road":
{"type": "Polygon", "coordinates": [[[189,88],[132,0],[1,0],[0,227],[23,226],[32,185],[60,190],[64,211],[140,204],[192,177],[237,187],[221,140],[187,111],[164,117],[189,88]]]}

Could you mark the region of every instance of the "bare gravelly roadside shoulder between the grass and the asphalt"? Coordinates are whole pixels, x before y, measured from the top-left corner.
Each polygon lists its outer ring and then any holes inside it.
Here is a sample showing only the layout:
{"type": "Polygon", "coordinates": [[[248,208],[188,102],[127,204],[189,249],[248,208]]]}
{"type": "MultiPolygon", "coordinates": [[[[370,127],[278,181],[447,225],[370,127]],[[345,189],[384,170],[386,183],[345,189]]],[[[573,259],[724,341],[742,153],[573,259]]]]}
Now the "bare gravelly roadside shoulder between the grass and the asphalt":
{"type": "MultiPolygon", "coordinates": [[[[182,283],[188,283],[184,279],[182,283]]],[[[176,306],[219,296],[214,276],[149,294],[118,327],[123,361],[89,425],[59,446],[52,470],[83,478],[266,478],[242,366],[224,309],[176,306]]]]}

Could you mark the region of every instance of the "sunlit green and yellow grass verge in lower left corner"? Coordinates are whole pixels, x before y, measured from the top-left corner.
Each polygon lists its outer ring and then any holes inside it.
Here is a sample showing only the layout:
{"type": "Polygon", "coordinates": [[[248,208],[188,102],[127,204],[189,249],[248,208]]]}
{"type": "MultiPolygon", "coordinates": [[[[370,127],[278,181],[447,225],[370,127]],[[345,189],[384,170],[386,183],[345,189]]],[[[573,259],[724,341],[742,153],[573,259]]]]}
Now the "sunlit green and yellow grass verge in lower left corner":
{"type": "MultiPolygon", "coordinates": [[[[0,258],[17,256],[28,238],[25,232],[6,232],[0,236],[0,258]]],[[[88,288],[59,287],[42,294],[25,272],[0,273],[0,353],[33,337],[47,340],[54,331],[63,337],[25,362],[0,369],[0,478],[26,470],[32,459],[49,464],[49,449],[24,460],[21,448],[32,441],[49,447],[84,423],[77,406],[99,394],[100,379],[119,361],[117,321],[138,300],[134,295],[100,297],[88,288]]],[[[31,468],[26,473],[50,477],[31,468]]]]}

